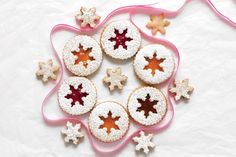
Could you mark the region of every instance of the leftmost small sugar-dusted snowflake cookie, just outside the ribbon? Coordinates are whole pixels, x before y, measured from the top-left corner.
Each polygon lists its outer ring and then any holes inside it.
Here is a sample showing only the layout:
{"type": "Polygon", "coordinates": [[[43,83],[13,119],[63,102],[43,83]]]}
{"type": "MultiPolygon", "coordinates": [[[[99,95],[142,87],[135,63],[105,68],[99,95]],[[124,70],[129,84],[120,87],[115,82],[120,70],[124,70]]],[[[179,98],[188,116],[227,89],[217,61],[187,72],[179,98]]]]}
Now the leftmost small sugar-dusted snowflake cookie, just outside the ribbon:
{"type": "Polygon", "coordinates": [[[49,78],[56,80],[56,73],[59,70],[58,65],[53,65],[52,59],[49,59],[47,62],[39,62],[39,69],[36,72],[36,76],[42,76],[42,81],[47,82],[49,78]]]}

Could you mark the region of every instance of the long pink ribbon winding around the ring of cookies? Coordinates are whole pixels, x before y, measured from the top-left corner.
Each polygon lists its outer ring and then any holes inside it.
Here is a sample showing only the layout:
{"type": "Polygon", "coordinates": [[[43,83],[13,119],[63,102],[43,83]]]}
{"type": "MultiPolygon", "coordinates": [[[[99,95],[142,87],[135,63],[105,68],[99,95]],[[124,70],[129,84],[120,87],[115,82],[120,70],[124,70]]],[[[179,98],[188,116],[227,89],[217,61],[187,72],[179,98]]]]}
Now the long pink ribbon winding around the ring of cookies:
{"type": "MultiPolygon", "coordinates": [[[[161,9],[161,8],[154,8],[152,7],[153,4],[150,5],[132,5],[132,6],[125,6],[125,7],[120,7],[118,9],[115,9],[114,11],[112,11],[100,24],[98,24],[95,28],[91,29],[91,28],[76,28],[67,24],[58,24],[56,26],[53,27],[53,29],[51,30],[50,33],[50,42],[51,42],[51,46],[54,52],[54,55],[56,57],[56,59],[58,60],[60,66],[61,66],[61,72],[60,72],[60,77],[57,80],[55,86],[52,88],[52,90],[47,94],[47,96],[45,97],[45,99],[42,102],[42,106],[41,106],[41,113],[43,116],[43,119],[45,120],[45,122],[47,124],[50,125],[63,125],[65,124],[67,121],[71,121],[73,123],[81,123],[82,127],[86,130],[86,133],[88,135],[89,141],[91,143],[92,148],[97,152],[97,153],[102,153],[102,154],[111,154],[111,153],[115,153],[120,151],[124,146],[126,146],[133,137],[137,136],[139,134],[140,131],[145,131],[145,132],[155,132],[155,133],[159,133],[165,129],[167,129],[174,117],[174,107],[173,107],[173,103],[170,97],[170,93],[169,93],[169,89],[170,86],[172,84],[172,82],[175,79],[175,75],[177,73],[178,67],[179,67],[179,63],[180,63],[180,55],[179,55],[179,51],[176,48],[176,46],[171,43],[170,41],[166,40],[166,39],[161,39],[161,38],[156,38],[153,36],[150,36],[148,34],[146,34],[145,32],[143,32],[133,21],[133,15],[136,13],[143,13],[143,14],[159,14],[159,13],[164,13],[166,17],[168,18],[172,18],[177,16],[184,8],[184,6],[187,4],[189,0],[186,0],[184,2],[184,4],[177,10],[177,11],[168,11],[165,9],[161,9]],[[129,20],[137,27],[137,29],[140,31],[141,35],[143,38],[147,39],[150,42],[154,42],[157,44],[162,44],[165,47],[171,49],[174,53],[174,55],[177,58],[177,66],[176,69],[174,71],[174,73],[172,74],[171,78],[168,81],[168,86],[167,86],[167,99],[169,102],[169,108],[168,108],[168,112],[170,113],[170,116],[168,117],[168,120],[165,124],[164,121],[159,123],[158,125],[152,126],[152,127],[141,127],[138,130],[134,131],[131,135],[129,135],[128,137],[126,137],[126,139],[124,139],[123,141],[121,141],[118,145],[116,145],[115,147],[113,147],[110,150],[104,150],[102,148],[99,148],[96,144],[95,144],[95,140],[93,138],[93,136],[91,135],[91,132],[88,128],[88,126],[79,119],[79,116],[67,116],[67,117],[63,117],[63,118],[59,118],[59,119],[51,119],[49,117],[46,116],[45,114],[45,106],[47,105],[47,102],[49,100],[49,98],[52,96],[52,94],[54,92],[57,91],[57,89],[59,88],[62,80],[63,80],[63,72],[64,72],[64,66],[63,63],[60,59],[60,57],[58,56],[58,53],[54,47],[53,44],[53,35],[61,30],[66,30],[66,31],[70,31],[76,34],[81,34],[81,33],[92,33],[97,31],[98,29],[102,28],[104,26],[104,24],[113,16],[117,15],[117,14],[121,14],[121,13],[129,13],[129,20]]],[[[227,22],[229,25],[236,27],[235,22],[233,22],[232,20],[230,20],[228,17],[225,17],[224,15],[222,15],[215,7],[214,5],[211,3],[210,0],[206,0],[207,4],[209,4],[209,6],[213,9],[213,11],[220,17],[222,18],[225,22],[227,22]]]]}

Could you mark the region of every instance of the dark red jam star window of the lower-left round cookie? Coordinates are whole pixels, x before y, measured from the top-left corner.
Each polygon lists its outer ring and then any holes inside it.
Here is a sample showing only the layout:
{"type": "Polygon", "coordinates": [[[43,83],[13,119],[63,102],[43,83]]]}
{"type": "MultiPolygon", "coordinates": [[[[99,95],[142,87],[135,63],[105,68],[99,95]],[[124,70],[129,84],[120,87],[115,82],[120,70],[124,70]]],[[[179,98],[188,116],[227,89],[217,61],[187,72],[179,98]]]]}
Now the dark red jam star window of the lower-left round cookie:
{"type": "Polygon", "coordinates": [[[70,85],[71,94],[67,94],[65,98],[72,99],[71,107],[73,107],[76,102],[79,102],[80,105],[84,106],[84,101],[82,100],[82,98],[86,97],[88,93],[82,92],[82,88],[82,84],[80,84],[77,89],[75,89],[74,86],[70,85]]]}

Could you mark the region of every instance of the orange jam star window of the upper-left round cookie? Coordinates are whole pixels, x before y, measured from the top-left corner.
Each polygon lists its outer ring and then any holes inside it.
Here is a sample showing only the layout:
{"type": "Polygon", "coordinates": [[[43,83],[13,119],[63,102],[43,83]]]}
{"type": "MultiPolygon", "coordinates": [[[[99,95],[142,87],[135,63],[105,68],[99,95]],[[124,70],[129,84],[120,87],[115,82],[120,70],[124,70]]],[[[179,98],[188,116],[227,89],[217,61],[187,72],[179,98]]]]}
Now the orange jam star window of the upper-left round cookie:
{"type": "Polygon", "coordinates": [[[92,51],[92,48],[87,48],[84,50],[83,46],[79,45],[79,51],[73,51],[72,54],[76,56],[75,64],[79,64],[80,62],[83,63],[83,66],[87,68],[88,61],[95,60],[92,56],[90,56],[90,52],[92,51]]]}

